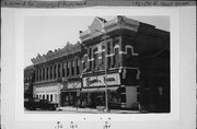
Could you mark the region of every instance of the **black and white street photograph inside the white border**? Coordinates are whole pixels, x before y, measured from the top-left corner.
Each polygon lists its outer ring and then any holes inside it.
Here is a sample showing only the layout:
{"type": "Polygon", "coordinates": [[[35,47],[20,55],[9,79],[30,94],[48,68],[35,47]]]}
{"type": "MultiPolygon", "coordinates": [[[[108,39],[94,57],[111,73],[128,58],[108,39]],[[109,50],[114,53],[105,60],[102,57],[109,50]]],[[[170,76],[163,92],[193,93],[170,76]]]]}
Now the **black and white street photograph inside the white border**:
{"type": "Polygon", "coordinates": [[[24,108],[170,113],[170,44],[169,16],[26,17],[24,108]]]}

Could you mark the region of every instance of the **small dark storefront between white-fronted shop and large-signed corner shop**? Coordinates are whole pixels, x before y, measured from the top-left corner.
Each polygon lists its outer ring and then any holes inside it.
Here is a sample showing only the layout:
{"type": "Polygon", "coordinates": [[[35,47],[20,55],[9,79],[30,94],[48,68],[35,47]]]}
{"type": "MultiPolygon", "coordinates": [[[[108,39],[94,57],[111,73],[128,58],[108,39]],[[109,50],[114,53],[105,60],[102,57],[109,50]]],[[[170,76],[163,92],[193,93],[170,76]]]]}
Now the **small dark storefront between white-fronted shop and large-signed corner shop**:
{"type": "Polygon", "coordinates": [[[61,90],[61,106],[80,105],[81,81],[68,81],[61,90]]]}

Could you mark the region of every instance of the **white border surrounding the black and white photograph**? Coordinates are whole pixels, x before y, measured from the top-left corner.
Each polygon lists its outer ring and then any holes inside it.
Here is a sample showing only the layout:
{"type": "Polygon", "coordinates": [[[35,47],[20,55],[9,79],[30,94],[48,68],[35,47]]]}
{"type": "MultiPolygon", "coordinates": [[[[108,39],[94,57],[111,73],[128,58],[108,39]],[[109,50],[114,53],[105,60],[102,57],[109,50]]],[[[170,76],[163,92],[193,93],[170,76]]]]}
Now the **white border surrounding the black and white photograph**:
{"type": "Polygon", "coordinates": [[[113,121],[178,120],[179,119],[179,12],[171,8],[90,8],[39,10],[24,9],[15,12],[15,120],[19,121],[96,121],[100,118],[113,118],[113,121]],[[134,15],[170,16],[171,44],[171,113],[169,114],[26,114],[23,95],[24,61],[24,19],[26,16],[96,16],[134,15]]]}

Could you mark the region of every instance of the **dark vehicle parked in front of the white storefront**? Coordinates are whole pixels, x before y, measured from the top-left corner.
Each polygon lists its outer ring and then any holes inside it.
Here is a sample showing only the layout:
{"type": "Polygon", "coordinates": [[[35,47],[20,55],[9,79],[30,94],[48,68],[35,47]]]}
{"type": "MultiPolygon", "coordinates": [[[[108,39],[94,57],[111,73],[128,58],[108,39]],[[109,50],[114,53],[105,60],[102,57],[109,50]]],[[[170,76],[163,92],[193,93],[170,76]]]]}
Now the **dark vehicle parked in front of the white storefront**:
{"type": "Polygon", "coordinates": [[[56,110],[58,104],[51,103],[48,99],[28,98],[24,99],[24,107],[30,110],[35,110],[37,108],[56,110]]]}

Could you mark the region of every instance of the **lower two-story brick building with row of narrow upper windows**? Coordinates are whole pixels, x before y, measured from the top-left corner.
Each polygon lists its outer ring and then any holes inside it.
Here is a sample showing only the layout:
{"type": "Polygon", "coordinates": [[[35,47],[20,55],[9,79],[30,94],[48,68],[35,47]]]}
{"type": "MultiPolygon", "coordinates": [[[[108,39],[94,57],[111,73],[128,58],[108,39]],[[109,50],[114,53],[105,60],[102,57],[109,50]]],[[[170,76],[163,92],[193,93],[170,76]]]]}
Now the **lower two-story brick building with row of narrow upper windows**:
{"type": "Polygon", "coordinates": [[[74,104],[81,89],[81,45],[67,44],[63,48],[49,50],[32,59],[35,67],[34,97],[59,105],[74,104]]]}

